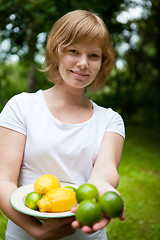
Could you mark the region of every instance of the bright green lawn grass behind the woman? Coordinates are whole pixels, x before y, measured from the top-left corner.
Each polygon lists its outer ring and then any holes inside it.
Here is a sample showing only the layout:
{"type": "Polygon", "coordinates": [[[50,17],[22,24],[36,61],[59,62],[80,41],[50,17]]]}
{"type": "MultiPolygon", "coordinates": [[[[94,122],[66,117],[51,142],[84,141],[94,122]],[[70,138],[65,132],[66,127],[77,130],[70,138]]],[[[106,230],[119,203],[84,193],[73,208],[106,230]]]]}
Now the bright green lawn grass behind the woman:
{"type": "MultiPolygon", "coordinates": [[[[128,127],[118,187],[126,207],[125,221],[113,219],[108,240],[160,240],[160,131],[128,127]]],[[[0,212],[0,240],[7,218],[0,212]]]]}

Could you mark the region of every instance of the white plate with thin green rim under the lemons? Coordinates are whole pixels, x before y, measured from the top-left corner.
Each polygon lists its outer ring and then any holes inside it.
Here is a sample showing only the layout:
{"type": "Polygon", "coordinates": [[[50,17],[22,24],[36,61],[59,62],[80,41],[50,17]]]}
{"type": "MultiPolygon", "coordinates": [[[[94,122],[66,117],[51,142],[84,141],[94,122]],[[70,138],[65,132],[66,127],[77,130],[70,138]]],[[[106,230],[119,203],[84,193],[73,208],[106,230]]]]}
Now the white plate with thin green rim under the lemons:
{"type": "MultiPolygon", "coordinates": [[[[69,182],[61,182],[61,187],[65,186],[73,186],[77,188],[77,186],[73,183],[69,182]]],[[[10,203],[13,208],[17,211],[24,213],[26,215],[34,216],[39,219],[47,219],[47,218],[63,218],[74,216],[75,213],[71,211],[61,212],[61,213],[43,213],[36,210],[32,210],[25,206],[25,198],[28,193],[34,192],[34,184],[24,185],[22,187],[17,188],[10,196],[10,203]]]]}

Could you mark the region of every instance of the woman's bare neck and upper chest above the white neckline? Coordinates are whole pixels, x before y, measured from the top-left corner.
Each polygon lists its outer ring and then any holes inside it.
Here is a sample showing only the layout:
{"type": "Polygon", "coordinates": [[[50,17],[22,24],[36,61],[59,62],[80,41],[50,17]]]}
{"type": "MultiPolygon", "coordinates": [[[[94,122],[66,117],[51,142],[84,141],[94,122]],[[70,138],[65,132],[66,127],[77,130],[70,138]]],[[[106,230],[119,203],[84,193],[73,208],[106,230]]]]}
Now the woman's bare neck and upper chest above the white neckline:
{"type": "Polygon", "coordinates": [[[84,91],[71,92],[55,85],[43,94],[52,115],[63,123],[83,123],[93,115],[92,102],[85,97],[84,91]]]}

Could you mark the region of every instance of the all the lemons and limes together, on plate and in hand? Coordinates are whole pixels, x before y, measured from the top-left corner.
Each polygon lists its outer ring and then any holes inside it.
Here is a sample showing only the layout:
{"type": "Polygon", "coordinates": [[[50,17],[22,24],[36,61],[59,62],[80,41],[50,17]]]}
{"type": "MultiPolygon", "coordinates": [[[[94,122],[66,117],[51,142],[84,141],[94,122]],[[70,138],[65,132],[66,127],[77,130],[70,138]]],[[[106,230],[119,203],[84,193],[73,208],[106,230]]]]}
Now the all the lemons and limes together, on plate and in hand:
{"type": "Polygon", "coordinates": [[[90,183],[84,183],[78,189],[61,187],[58,178],[50,174],[39,177],[34,192],[25,198],[27,207],[50,213],[69,211],[77,203],[75,217],[81,226],[92,226],[102,214],[108,218],[120,217],[124,208],[122,198],[115,192],[105,192],[99,197],[97,188],[90,183]]]}

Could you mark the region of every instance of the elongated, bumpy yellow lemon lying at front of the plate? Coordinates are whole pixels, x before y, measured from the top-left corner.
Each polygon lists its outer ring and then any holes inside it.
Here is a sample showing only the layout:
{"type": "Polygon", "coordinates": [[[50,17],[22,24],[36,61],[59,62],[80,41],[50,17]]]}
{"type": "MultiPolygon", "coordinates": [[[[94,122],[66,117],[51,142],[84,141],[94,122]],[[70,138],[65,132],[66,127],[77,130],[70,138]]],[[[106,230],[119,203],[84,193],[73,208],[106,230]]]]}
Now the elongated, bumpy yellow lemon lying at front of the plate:
{"type": "Polygon", "coordinates": [[[76,206],[76,194],[69,188],[55,188],[50,190],[39,202],[41,212],[66,212],[76,206]]]}

